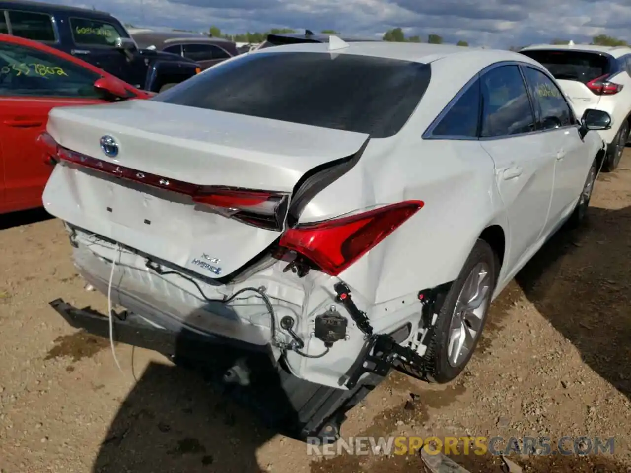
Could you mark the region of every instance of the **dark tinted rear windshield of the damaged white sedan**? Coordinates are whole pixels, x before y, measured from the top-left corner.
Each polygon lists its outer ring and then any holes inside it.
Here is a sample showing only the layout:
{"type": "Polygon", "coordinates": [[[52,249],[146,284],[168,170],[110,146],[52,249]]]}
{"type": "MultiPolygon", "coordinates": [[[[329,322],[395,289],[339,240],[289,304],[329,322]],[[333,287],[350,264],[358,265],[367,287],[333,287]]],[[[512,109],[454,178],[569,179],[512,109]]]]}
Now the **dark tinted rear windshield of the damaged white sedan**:
{"type": "Polygon", "coordinates": [[[257,52],[151,100],[389,137],[427,90],[428,64],[327,52],[257,52]]]}

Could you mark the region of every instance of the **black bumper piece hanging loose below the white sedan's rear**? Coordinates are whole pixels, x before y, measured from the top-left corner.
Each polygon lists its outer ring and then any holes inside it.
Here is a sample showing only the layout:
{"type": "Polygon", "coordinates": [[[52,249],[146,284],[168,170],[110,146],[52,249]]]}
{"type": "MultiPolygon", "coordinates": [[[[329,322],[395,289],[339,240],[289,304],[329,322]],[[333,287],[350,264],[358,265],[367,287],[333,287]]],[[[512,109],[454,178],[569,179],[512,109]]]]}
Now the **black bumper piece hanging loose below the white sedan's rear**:
{"type": "MultiPolygon", "coordinates": [[[[49,304],[72,327],[96,336],[109,336],[109,318],[105,315],[89,307],[75,308],[61,298],[49,304]]],[[[261,346],[201,336],[186,329],[179,333],[158,329],[134,313],[117,313],[112,315],[112,321],[115,341],[155,350],[170,356],[177,365],[201,371],[206,382],[252,409],[264,424],[300,441],[311,441],[314,437],[336,440],[346,412],[383,379],[369,375],[352,389],[335,389],[295,377],[281,363],[273,361],[271,352],[269,356],[261,356],[261,352],[269,351],[261,346]],[[247,358],[249,383],[226,383],[226,369],[239,358],[247,358]]]]}

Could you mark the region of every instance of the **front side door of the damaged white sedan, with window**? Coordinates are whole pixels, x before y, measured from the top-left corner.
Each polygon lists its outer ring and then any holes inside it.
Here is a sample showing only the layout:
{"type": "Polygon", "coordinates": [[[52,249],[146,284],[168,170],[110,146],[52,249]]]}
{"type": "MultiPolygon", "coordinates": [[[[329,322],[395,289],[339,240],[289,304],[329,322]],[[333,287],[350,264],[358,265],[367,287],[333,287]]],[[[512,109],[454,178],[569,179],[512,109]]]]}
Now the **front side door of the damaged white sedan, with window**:
{"type": "Polygon", "coordinates": [[[546,154],[555,157],[548,222],[541,231],[544,236],[554,231],[574,208],[595,156],[587,156],[589,149],[579,134],[574,110],[554,81],[533,66],[522,66],[522,71],[533,97],[546,154]]]}

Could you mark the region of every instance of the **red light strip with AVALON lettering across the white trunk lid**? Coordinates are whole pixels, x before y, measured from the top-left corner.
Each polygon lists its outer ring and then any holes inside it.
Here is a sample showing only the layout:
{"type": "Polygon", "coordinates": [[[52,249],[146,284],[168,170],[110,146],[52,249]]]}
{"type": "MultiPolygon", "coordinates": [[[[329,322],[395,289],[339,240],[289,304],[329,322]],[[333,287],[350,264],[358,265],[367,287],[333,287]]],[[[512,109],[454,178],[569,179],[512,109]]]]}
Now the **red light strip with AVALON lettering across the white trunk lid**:
{"type": "Polygon", "coordinates": [[[66,161],[117,178],[190,196],[193,202],[213,208],[217,213],[267,230],[283,230],[289,194],[267,190],[239,189],[217,185],[199,185],[127,168],[109,161],[75,153],[59,146],[50,134],[42,133],[37,143],[45,160],[66,161]]]}

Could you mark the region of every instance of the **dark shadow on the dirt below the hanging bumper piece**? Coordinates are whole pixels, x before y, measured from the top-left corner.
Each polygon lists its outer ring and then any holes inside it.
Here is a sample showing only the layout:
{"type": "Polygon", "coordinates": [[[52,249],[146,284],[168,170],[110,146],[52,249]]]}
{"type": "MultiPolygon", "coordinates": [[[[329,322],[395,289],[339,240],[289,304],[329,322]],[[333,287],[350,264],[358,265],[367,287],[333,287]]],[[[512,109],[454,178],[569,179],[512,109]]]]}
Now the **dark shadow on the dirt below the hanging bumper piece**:
{"type": "Polygon", "coordinates": [[[93,472],[261,473],[273,436],[193,370],[150,363],[102,441],[93,472]]]}

